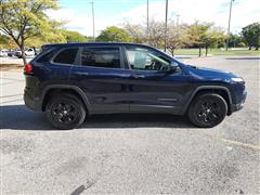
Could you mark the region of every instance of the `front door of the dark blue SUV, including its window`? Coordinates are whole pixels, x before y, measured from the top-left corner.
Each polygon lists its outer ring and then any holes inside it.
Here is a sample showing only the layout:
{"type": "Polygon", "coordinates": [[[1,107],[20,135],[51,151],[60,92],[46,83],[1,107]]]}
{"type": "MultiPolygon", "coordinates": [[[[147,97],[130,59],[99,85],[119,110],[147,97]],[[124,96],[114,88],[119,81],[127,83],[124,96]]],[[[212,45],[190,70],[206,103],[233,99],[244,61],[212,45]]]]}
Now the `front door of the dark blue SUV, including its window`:
{"type": "Polygon", "coordinates": [[[126,47],[126,55],[130,112],[178,114],[188,83],[180,67],[172,73],[165,70],[178,62],[146,47],[126,47]]]}

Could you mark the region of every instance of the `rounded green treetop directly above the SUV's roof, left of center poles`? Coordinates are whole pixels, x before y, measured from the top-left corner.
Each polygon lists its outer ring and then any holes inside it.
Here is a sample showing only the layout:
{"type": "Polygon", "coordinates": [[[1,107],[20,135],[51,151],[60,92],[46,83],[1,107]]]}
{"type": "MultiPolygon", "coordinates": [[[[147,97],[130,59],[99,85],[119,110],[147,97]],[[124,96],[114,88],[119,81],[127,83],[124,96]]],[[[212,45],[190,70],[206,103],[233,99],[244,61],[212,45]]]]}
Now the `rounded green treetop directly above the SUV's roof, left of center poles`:
{"type": "Polygon", "coordinates": [[[110,26],[101,32],[101,35],[96,38],[96,41],[130,42],[131,37],[125,29],[110,26]]]}

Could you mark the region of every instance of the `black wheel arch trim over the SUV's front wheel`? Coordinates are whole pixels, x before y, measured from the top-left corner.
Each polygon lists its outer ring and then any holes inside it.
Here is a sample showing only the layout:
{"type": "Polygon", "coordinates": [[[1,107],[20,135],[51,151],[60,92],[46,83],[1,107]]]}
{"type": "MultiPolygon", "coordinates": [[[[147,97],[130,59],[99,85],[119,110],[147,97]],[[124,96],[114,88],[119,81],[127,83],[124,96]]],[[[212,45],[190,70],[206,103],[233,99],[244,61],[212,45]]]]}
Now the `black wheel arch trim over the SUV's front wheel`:
{"type": "Polygon", "coordinates": [[[221,95],[227,104],[227,116],[231,115],[231,104],[232,104],[231,92],[226,87],[222,87],[222,86],[202,86],[196,88],[196,90],[192,93],[191,98],[188,99],[186,106],[184,106],[183,114],[186,114],[190,105],[192,104],[192,101],[197,95],[202,93],[207,93],[207,92],[213,92],[221,95]]]}

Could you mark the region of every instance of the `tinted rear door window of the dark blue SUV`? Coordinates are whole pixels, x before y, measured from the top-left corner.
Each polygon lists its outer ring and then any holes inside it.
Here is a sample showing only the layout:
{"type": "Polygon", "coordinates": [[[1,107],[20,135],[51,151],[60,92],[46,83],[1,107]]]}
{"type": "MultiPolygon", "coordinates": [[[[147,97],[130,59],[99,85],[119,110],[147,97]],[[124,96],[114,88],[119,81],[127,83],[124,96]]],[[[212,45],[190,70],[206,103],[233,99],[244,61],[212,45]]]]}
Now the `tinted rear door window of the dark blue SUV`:
{"type": "Polygon", "coordinates": [[[120,52],[118,48],[83,48],[81,53],[83,66],[104,68],[120,68],[120,52]]]}

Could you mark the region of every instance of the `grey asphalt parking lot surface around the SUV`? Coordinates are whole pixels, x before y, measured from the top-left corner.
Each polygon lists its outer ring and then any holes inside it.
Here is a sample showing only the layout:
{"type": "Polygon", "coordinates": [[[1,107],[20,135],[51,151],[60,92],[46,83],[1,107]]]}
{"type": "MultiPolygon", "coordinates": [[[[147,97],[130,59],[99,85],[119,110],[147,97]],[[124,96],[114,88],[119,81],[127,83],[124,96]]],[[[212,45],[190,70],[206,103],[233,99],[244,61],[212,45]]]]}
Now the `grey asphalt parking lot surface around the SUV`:
{"type": "Polygon", "coordinates": [[[54,130],[23,103],[22,70],[1,72],[2,194],[259,194],[260,58],[183,58],[243,76],[243,110],[216,128],[170,115],[102,115],[54,130]]]}

